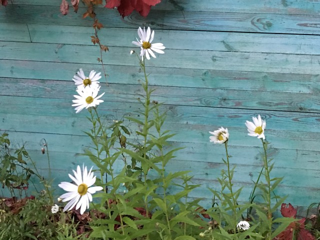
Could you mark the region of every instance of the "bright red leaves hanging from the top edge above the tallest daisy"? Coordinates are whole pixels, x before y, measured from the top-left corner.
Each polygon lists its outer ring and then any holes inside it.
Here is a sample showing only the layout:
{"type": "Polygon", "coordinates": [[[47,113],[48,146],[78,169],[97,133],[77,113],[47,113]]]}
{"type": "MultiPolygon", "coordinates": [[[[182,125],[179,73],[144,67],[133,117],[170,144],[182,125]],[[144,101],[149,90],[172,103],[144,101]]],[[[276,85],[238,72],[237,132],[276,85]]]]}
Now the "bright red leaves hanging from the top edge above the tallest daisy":
{"type": "Polygon", "coordinates": [[[151,6],[161,2],[161,0],[105,0],[107,8],[117,7],[122,17],[129,15],[136,10],[141,16],[147,16],[151,6]]]}

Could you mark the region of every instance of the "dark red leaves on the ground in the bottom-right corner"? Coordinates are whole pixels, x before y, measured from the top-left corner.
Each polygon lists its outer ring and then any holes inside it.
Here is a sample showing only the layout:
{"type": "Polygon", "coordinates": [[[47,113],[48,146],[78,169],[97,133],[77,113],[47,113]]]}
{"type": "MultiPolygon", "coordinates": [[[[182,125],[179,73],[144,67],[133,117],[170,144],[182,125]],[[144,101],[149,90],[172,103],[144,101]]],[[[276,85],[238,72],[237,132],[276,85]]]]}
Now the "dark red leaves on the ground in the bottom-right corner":
{"type": "MultiPolygon", "coordinates": [[[[290,203],[288,205],[282,203],[280,211],[284,217],[296,217],[296,209],[290,203]]],[[[297,240],[315,240],[311,232],[304,228],[304,221],[305,218],[303,217],[298,221],[291,222],[274,240],[292,240],[293,234],[297,237],[297,240]]]]}

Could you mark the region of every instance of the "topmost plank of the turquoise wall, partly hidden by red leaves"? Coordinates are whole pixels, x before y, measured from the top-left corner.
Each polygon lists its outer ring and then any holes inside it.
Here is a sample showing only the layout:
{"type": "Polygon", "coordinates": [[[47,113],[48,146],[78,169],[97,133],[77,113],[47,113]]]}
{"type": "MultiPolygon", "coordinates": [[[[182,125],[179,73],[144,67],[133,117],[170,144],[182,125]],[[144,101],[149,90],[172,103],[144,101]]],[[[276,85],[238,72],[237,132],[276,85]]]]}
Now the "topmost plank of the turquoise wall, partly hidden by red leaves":
{"type": "MultiPolygon", "coordinates": [[[[60,1],[52,0],[14,0],[15,5],[46,5],[59,6],[60,1]]],[[[104,4],[103,4],[104,5],[104,4]]],[[[99,5],[99,7],[103,7],[99,5]]],[[[152,7],[161,10],[184,11],[213,11],[213,12],[258,12],[258,13],[287,13],[287,14],[317,14],[320,3],[310,0],[162,0],[152,7]]],[[[70,10],[71,11],[71,10],[70,10]]]]}

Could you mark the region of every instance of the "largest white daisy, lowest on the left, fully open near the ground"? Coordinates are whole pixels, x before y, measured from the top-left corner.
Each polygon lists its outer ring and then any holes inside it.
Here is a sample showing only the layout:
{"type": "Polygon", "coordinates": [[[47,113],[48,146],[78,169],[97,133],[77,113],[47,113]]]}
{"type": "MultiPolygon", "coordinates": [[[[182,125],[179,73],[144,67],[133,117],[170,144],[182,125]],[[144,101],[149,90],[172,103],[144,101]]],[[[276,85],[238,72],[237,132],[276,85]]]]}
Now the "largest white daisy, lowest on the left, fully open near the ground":
{"type": "Polygon", "coordinates": [[[95,176],[91,172],[92,167],[89,172],[86,169],[86,166],[82,166],[82,174],[80,166],[76,167],[76,171],[73,171],[74,176],[69,174],[69,177],[75,183],[70,183],[67,181],[62,181],[58,184],[63,190],[68,191],[60,196],[62,201],[69,201],[63,211],[72,209],[75,206],[75,209],[80,207],[80,214],[83,214],[86,208],[89,208],[89,201],[92,201],[92,195],[96,191],[102,190],[102,186],[91,186],[95,182],[95,176]],[[91,187],[90,187],[91,186],[91,187]]]}

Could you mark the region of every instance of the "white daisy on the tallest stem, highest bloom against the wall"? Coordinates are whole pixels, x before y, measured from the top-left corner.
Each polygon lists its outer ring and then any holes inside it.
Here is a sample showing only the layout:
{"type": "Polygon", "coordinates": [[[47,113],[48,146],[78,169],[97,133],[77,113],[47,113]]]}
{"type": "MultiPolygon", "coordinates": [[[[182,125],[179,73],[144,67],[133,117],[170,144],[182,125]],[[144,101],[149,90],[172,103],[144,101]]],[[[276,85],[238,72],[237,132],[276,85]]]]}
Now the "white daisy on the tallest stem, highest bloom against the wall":
{"type": "Polygon", "coordinates": [[[138,28],[138,35],[140,37],[140,40],[138,40],[138,38],[136,38],[137,41],[132,41],[132,43],[141,48],[140,56],[142,57],[142,61],[143,61],[144,55],[145,55],[146,59],[148,59],[148,60],[150,59],[150,55],[155,58],[153,51],[155,51],[157,53],[164,53],[164,51],[162,51],[162,50],[165,49],[165,46],[163,46],[162,43],[160,43],[160,42],[151,43],[153,40],[153,37],[154,37],[154,31],[152,30],[152,33],[151,33],[151,29],[149,26],[146,29],[146,31],[145,31],[144,27],[143,27],[143,30],[141,27],[139,27],[138,28]]]}

